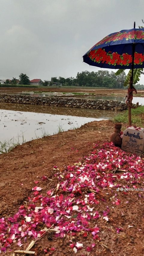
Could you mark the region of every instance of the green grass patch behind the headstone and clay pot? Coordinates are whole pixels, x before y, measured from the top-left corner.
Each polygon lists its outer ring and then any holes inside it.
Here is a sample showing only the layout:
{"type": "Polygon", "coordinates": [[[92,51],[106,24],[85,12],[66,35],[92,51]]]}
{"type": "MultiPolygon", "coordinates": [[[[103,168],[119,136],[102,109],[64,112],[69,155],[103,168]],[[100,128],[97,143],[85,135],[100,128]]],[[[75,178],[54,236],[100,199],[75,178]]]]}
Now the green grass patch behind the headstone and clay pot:
{"type": "MultiPolygon", "coordinates": [[[[115,123],[126,123],[128,124],[128,110],[116,115],[113,118],[115,123]]],[[[131,109],[131,122],[133,126],[144,126],[144,106],[140,106],[135,109],[131,109]]]]}

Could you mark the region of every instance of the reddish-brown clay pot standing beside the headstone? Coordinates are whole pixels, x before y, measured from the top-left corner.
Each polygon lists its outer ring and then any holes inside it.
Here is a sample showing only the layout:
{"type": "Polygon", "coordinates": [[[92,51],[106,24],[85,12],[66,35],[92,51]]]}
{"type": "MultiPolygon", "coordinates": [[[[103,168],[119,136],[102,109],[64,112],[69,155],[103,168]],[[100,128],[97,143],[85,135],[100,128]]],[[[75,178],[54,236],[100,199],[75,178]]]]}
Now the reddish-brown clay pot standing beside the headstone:
{"type": "Polygon", "coordinates": [[[113,142],[115,146],[120,147],[122,146],[122,138],[120,136],[122,124],[121,123],[115,123],[115,131],[110,136],[110,142],[113,142]]]}

